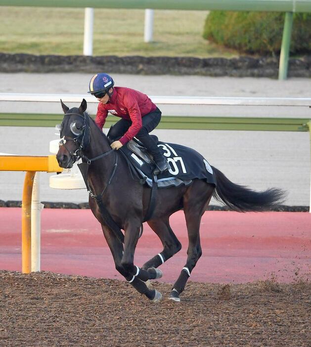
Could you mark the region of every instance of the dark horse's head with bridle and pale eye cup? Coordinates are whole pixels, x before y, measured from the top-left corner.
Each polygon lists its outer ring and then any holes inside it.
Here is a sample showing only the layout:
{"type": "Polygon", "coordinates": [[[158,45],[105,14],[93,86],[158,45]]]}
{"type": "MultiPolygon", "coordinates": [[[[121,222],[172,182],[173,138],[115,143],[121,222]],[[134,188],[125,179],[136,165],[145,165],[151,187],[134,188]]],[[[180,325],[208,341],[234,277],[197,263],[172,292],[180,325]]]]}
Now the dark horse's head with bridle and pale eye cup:
{"type": "Polygon", "coordinates": [[[71,109],[61,100],[60,103],[64,111],[64,119],[60,128],[61,139],[56,159],[61,168],[69,169],[80,158],[81,151],[89,145],[89,116],[85,112],[87,101],[83,99],[79,108],[71,109]]]}

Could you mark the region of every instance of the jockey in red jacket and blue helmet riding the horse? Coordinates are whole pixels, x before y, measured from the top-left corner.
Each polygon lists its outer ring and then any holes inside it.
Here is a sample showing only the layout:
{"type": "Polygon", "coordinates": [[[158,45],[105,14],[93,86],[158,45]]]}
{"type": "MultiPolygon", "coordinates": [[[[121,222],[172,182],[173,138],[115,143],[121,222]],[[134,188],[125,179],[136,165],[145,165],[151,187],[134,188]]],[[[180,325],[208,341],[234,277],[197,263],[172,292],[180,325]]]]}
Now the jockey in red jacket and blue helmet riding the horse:
{"type": "Polygon", "coordinates": [[[135,136],[152,154],[161,172],[170,169],[162,150],[149,135],[159,124],[161,111],[147,95],[127,87],[114,87],[113,79],[104,73],[90,79],[89,93],[99,101],[95,118],[99,129],[104,126],[108,112],[121,118],[109,130],[111,148],[119,149],[135,136]]]}

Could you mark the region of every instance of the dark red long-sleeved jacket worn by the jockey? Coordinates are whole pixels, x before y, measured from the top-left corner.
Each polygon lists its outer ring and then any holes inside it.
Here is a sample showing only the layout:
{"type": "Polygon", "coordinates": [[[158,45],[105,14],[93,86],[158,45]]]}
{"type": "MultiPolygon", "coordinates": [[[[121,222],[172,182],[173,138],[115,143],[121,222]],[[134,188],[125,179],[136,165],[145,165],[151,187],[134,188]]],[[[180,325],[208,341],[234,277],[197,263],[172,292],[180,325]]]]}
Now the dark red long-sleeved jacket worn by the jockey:
{"type": "Polygon", "coordinates": [[[98,104],[95,123],[102,129],[108,112],[114,116],[132,121],[129,130],[120,138],[124,145],[137,134],[142,127],[141,117],[154,111],[157,106],[146,94],[127,87],[114,87],[113,94],[106,104],[98,104]]]}

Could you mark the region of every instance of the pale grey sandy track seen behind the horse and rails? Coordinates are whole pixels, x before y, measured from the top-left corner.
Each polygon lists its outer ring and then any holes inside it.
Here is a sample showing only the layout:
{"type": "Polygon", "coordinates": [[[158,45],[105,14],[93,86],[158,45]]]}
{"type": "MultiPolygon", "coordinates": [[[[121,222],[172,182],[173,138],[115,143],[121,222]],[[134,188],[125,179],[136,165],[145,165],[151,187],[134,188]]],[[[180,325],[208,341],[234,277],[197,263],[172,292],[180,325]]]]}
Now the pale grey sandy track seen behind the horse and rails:
{"type": "MultiPolygon", "coordinates": [[[[0,74],[0,92],[78,93],[88,90],[89,74],[0,74]]],[[[202,76],[113,75],[116,85],[133,87],[148,95],[310,97],[311,80],[266,78],[213,78],[202,76]]],[[[70,105],[75,106],[75,105],[70,105]]],[[[159,105],[164,115],[311,117],[308,107],[170,106],[159,105]]],[[[61,112],[57,103],[0,102],[1,112],[61,112]]],[[[96,106],[89,106],[94,114],[96,106]]],[[[310,202],[310,138],[308,132],[154,130],[163,141],[193,147],[233,182],[263,190],[279,187],[288,192],[286,205],[310,202]]],[[[48,153],[55,139],[52,128],[2,127],[0,152],[48,153]]],[[[0,173],[0,199],[21,200],[24,173],[0,173]]],[[[59,191],[48,187],[42,174],[42,200],[86,202],[86,191],[59,191]]]]}

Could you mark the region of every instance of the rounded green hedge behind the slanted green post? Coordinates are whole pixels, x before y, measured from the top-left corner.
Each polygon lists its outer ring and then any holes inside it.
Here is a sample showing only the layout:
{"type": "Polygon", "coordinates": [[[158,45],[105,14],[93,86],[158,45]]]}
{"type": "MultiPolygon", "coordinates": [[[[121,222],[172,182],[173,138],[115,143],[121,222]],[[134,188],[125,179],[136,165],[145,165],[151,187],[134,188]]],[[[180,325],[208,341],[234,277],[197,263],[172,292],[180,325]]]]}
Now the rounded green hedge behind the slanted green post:
{"type": "MultiPolygon", "coordinates": [[[[285,13],[212,11],[207,16],[206,40],[250,54],[278,54],[281,49],[285,13]]],[[[295,13],[290,50],[311,52],[311,14],[295,13]]]]}

